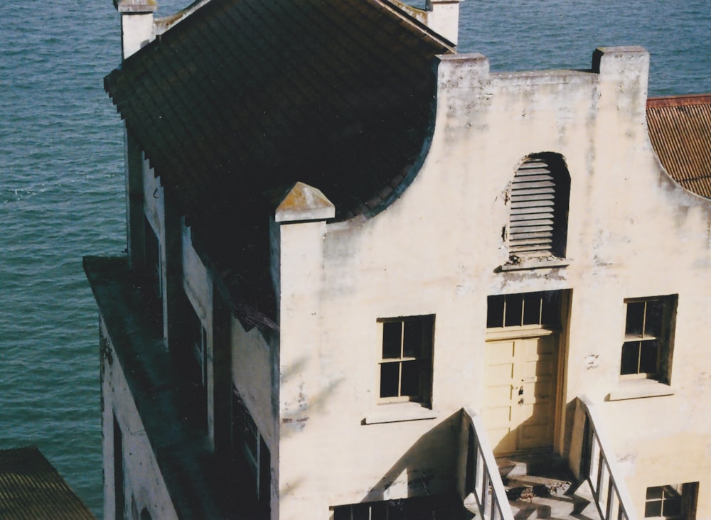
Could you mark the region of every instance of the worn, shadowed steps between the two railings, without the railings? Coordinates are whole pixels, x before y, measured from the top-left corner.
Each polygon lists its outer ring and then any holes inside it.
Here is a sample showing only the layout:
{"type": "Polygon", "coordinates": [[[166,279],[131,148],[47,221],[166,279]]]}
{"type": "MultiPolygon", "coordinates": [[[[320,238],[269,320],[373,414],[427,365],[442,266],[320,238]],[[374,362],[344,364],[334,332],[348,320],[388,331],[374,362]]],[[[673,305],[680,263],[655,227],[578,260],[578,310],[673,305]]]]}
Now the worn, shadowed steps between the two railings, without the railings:
{"type": "Polygon", "coordinates": [[[515,520],[599,520],[587,480],[577,483],[567,462],[550,453],[496,460],[515,520]]]}

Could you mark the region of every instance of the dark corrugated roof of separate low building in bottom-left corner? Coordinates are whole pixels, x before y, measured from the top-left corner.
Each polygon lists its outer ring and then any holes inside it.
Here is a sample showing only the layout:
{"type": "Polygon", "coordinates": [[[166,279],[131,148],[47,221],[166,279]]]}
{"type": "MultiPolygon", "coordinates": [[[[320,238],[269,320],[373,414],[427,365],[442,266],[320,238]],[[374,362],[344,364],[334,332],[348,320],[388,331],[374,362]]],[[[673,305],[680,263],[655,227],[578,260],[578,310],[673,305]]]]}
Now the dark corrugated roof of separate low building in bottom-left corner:
{"type": "Polygon", "coordinates": [[[37,448],[0,450],[0,519],[95,519],[37,448]]]}

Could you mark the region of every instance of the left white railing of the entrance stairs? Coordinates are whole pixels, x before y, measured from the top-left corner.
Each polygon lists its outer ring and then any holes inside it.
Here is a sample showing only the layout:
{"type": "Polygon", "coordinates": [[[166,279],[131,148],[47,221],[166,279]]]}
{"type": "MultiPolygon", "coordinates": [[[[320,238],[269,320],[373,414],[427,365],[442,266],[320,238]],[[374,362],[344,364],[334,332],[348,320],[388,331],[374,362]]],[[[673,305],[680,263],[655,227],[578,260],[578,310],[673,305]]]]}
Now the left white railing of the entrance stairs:
{"type": "Polygon", "coordinates": [[[481,418],[470,408],[465,407],[463,412],[467,435],[465,507],[471,511],[475,506],[483,520],[514,520],[481,418]],[[476,504],[471,504],[472,497],[476,504]]]}

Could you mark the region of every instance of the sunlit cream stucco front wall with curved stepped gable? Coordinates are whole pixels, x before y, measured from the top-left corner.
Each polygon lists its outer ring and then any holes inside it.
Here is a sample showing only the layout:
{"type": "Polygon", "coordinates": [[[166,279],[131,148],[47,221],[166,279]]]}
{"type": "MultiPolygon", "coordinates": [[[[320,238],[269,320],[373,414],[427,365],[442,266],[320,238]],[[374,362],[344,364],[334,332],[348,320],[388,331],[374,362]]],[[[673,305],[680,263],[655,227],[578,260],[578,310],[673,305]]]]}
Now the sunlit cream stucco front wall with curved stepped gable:
{"type": "MultiPolygon", "coordinates": [[[[482,406],[486,296],[499,293],[572,290],[561,407],[580,394],[597,403],[640,510],[648,485],[709,478],[711,425],[697,419],[711,401],[699,333],[711,205],[653,153],[647,73],[639,48],[606,50],[599,73],[491,74],[481,56],[444,58],[429,153],[400,200],[370,220],[282,225],[279,518],[451,489],[455,414],[482,406]],[[570,264],[497,272],[508,259],[508,183],[542,151],[570,170],[570,264]],[[666,294],[679,295],[675,394],[607,401],[624,386],[624,298],[666,294]],[[364,424],[417,418],[378,405],[376,320],[423,314],[436,315],[435,417],[364,424]]],[[[562,430],[556,448],[566,445],[562,430]]],[[[700,497],[699,517],[710,516],[700,497]]]]}

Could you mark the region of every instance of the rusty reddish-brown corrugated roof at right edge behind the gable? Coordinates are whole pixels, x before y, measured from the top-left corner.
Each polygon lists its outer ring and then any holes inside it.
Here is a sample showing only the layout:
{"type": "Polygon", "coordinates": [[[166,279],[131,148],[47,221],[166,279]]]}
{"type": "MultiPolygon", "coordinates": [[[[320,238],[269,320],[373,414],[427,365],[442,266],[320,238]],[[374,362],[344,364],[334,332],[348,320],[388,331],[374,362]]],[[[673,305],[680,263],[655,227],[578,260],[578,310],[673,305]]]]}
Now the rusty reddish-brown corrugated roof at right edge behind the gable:
{"type": "Polygon", "coordinates": [[[711,94],[651,97],[647,124],[669,175],[687,190],[711,198],[711,94]]]}

